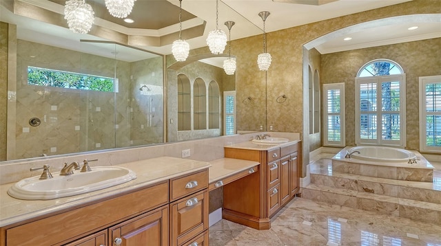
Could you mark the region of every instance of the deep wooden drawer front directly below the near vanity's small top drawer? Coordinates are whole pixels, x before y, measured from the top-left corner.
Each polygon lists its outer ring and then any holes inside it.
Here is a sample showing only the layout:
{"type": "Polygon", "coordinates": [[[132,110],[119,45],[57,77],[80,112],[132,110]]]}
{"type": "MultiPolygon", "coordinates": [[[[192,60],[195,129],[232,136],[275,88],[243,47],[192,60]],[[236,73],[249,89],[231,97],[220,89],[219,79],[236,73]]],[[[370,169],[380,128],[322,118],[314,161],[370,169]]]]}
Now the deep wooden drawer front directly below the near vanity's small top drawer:
{"type": "Polygon", "coordinates": [[[208,192],[170,204],[170,245],[181,245],[208,229],[208,192]]]}

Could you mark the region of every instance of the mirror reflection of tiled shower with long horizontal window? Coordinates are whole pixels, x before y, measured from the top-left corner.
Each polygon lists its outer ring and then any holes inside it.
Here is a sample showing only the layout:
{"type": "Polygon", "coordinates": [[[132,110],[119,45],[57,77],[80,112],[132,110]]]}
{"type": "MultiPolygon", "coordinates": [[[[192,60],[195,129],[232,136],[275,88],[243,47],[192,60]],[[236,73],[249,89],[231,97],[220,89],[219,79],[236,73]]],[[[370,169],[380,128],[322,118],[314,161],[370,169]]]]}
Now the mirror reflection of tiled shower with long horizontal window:
{"type": "Polygon", "coordinates": [[[162,65],[162,56],[115,43],[64,49],[17,38],[6,159],[163,142],[162,65]]]}

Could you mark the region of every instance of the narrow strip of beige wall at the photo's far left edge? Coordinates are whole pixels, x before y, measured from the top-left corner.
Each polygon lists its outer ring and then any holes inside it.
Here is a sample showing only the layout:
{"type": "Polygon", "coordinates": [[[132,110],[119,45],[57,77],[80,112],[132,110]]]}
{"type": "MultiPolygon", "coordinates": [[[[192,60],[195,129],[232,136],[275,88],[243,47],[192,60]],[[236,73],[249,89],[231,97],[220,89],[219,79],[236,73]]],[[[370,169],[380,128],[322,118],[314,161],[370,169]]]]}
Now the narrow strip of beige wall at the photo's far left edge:
{"type": "MultiPolygon", "coordinates": [[[[0,22],[0,109],[8,107],[8,23],[0,22]],[[3,82],[4,81],[4,82],[3,82]]],[[[0,111],[0,161],[6,160],[6,110],[0,111]]]]}

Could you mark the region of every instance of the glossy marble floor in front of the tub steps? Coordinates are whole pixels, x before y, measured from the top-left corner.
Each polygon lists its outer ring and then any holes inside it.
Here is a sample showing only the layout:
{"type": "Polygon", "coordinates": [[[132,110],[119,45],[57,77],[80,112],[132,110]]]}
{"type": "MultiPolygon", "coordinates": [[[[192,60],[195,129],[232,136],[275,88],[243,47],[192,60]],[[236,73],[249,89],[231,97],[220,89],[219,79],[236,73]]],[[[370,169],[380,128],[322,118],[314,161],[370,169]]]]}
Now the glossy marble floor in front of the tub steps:
{"type": "Polygon", "coordinates": [[[441,246],[441,225],[296,197],[271,219],[270,230],[222,220],[209,228],[209,245],[441,246]]]}

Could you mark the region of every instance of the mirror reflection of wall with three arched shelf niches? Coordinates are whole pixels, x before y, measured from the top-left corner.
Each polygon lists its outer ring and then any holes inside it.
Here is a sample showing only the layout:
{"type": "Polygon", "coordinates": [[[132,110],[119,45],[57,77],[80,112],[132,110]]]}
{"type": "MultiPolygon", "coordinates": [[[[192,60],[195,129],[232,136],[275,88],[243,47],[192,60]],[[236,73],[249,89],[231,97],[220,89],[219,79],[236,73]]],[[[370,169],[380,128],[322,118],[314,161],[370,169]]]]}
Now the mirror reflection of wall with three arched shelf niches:
{"type": "MultiPolygon", "coordinates": [[[[223,93],[236,89],[236,76],[225,74],[221,65],[216,65],[216,60],[225,60],[224,56],[199,54],[168,67],[167,142],[216,137],[225,132],[223,93]]],[[[234,128],[234,121],[229,127],[234,128]]]]}

